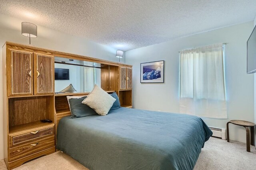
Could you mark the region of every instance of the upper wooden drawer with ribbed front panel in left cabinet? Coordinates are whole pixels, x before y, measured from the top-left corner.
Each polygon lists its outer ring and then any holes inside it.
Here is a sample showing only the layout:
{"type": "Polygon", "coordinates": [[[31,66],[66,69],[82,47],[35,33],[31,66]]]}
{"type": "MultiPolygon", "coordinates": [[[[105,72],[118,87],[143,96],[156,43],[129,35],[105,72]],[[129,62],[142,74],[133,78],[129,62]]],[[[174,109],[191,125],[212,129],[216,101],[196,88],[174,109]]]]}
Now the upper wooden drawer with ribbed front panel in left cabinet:
{"type": "Polygon", "coordinates": [[[10,147],[21,145],[25,142],[54,134],[54,127],[48,127],[46,129],[34,130],[24,134],[10,135],[10,147]]]}

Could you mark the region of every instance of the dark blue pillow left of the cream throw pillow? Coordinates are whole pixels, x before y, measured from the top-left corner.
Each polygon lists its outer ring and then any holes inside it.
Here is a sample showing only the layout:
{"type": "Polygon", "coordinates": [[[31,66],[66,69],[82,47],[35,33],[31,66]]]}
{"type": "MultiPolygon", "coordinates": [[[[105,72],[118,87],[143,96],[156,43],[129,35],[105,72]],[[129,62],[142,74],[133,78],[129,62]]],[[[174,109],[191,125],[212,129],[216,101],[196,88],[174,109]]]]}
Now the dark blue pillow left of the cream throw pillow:
{"type": "Polygon", "coordinates": [[[82,101],[87,98],[71,98],[68,100],[70,104],[71,118],[85,117],[90,115],[96,115],[97,113],[91,107],[86,104],[82,104],[82,101]]]}

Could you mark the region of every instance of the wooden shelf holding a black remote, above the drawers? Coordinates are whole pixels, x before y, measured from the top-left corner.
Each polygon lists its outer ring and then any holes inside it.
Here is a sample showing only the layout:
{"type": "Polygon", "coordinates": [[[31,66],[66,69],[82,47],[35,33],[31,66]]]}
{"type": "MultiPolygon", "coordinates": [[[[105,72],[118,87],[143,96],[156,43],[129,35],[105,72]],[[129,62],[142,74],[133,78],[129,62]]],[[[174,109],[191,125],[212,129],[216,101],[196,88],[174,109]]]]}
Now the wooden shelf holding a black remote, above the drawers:
{"type": "Polygon", "coordinates": [[[52,123],[43,123],[42,121],[35,121],[35,122],[31,122],[31,123],[26,123],[26,124],[22,124],[22,125],[16,125],[16,126],[12,126],[9,128],[9,135],[12,135],[12,133],[17,133],[20,131],[29,131],[35,128],[40,128],[40,127],[46,127],[46,126],[54,126],[54,122],[52,123]]]}

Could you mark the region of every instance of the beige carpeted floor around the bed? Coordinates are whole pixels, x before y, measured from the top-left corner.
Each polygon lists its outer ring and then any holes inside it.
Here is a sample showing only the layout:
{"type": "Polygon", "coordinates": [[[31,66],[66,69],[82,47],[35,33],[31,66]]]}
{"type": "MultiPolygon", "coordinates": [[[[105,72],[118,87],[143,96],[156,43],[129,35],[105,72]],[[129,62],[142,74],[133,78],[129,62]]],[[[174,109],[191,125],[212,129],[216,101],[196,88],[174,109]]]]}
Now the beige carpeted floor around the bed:
{"type": "MultiPolygon", "coordinates": [[[[255,170],[256,149],[246,152],[246,144],[211,137],[205,143],[194,170],[255,170]]],[[[6,170],[0,160],[0,170],[6,170]]],[[[58,151],[27,162],[14,170],[88,170],[70,156],[58,151]]]]}

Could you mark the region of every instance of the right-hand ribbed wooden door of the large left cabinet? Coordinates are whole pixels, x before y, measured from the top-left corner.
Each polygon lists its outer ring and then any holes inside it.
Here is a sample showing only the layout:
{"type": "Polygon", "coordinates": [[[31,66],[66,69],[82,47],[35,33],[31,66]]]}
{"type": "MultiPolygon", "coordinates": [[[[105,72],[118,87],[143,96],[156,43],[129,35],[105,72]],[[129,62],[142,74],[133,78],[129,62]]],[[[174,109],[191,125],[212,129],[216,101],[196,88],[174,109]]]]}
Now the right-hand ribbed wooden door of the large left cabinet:
{"type": "Polygon", "coordinates": [[[35,94],[54,94],[54,57],[34,54],[35,94]]]}

